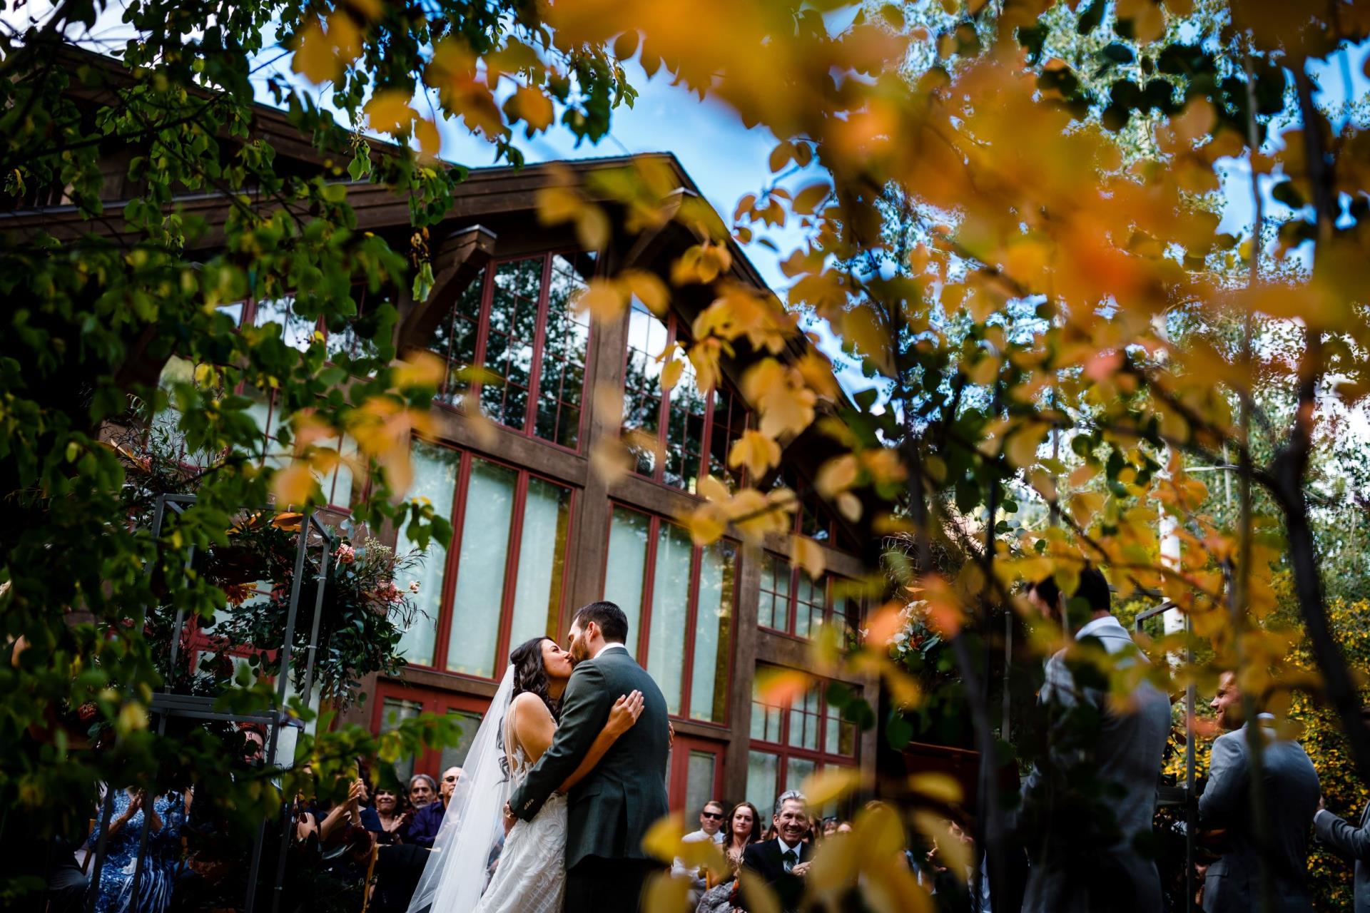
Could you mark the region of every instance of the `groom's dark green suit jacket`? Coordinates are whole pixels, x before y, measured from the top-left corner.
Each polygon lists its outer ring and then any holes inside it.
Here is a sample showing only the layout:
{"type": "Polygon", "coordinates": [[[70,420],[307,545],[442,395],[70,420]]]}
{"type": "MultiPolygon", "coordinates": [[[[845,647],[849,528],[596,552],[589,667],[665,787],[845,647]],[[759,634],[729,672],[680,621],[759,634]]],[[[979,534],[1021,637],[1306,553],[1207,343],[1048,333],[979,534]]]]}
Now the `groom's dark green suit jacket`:
{"type": "Polygon", "coordinates": [[[566,868],[586,856],[641,860],[643,835],[666,808],[666,756],[670,749],[666,698],[627,650],[604,649],[577,664],[562,695],[562,720],[552,745],[510,797],[516,817],[530,821],[570,776],[608,721],[614,702],[638,690],[643,715],[610,746],[589,776],[570,793],[566,868]]]}

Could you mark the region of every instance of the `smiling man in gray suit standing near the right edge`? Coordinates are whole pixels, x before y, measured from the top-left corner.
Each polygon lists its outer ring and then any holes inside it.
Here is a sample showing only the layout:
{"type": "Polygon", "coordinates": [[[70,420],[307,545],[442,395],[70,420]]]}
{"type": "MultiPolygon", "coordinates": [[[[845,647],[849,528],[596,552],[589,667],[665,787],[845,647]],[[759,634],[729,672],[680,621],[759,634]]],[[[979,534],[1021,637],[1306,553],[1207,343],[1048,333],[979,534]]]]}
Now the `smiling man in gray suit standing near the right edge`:
{"type": "MultiPolygon", "coordinates": [[[[1212,742],[1208,784],[1199,797],[1200,828],[1221,828],[1222,857],[1204,876],[1206,913],[1247,913],[1262,909],[1269,876],[1274,910],[1312,910],[1308,897],[1308,823],[1318,808],[1318,772],[1297,742],[1277,739],[1258,715],[1255,728],[1245,720],[1237,676],[1223,672],[1210,706],[1228,730],[1212,742]],[[1265,795],[1267,851],[1260,851],[1258,821],[1251,806],[1251,741],[1260,739],[1260,790],[1265,795]]],[[[1256,705],[1259,709],[1259,704],[1256,705]]]]}

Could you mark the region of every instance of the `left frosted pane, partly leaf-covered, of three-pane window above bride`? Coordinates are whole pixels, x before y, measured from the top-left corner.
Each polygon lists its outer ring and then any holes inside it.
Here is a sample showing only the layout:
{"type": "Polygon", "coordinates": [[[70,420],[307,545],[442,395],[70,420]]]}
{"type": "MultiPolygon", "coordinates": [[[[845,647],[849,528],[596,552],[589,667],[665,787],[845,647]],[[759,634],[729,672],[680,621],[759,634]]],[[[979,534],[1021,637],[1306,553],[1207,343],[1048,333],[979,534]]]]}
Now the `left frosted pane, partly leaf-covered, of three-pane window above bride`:
{"type": "MultiPolygon", "coordinates": [[[[438,515],[451,517],[456,500],[456,471],[462,454],[451,448],[440,448],[415,441],[412,449],[414,483],[408,496],[427,498],[438,515]]],[[[400,554],[415,548],[404,530],[399,534],[400,554]]],[[[414,602],[419,609],[414,621],[400,638],[400,656],[416,665],[433,665],[433,646],[437,643],[437,617],[443,608],[443,575],[447,569],[447,549],[436,539],[429,542],[422,564],[410,569],[419,582],[414,602]]],[[[406,586],[408,580],[397,580],[406,586]]]]}

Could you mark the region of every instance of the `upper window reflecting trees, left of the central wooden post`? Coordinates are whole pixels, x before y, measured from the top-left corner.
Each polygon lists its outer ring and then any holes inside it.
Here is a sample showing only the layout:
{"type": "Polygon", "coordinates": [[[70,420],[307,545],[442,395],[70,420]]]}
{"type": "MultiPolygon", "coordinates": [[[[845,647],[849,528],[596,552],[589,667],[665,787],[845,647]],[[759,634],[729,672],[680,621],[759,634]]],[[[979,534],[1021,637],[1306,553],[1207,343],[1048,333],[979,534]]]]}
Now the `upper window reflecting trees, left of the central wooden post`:
{"type": "Polygon", "coordinates": [[[590,327],[574,300],[593,267],[589,255],[540,253],[484,270],[426,344],[448,364],[438,401],[475,397],[495,422],[577,449],[590,327]]]}

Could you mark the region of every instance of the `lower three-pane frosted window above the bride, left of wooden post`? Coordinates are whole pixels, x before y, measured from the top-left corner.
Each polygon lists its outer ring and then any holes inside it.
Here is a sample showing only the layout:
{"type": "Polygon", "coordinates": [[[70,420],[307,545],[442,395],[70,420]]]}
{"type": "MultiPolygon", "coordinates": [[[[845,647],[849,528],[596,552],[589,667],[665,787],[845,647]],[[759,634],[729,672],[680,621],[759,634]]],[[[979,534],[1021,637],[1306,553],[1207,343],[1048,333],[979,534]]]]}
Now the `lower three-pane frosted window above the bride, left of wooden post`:
{"type": "Polygon", "coordinates": [[[429,545],[422,615],[404,632],[401,652],[415,665],[499,678],[512,647],[556,636],[571,490],[422,441],[412,456],[411,496],[451,509],[453,534],[451,552],[429,545]]]}

